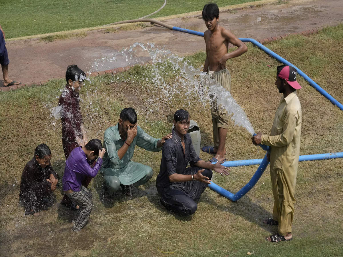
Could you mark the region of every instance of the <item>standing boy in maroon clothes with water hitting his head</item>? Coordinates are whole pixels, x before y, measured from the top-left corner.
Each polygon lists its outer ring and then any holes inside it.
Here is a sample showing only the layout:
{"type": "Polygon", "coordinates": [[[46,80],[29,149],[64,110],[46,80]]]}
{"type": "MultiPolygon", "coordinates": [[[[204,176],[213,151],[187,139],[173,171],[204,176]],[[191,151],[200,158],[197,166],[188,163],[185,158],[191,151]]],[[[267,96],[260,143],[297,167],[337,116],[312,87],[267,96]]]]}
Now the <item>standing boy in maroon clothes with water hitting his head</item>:
{"type": "MultiPolygon", "coordinates": [[[[79,97],[79,91],[85,78],[86,74],[77,65],[69,65],[66,71],[66,88],[64,88],[58,101],[58,105],[61,106],[62,146],[66,160],[74,148],[80,145],[85,146],[87,143],[79,97]]],[[[85,177],[82,185],[87,187],[91,179],[85,177]]],[[[61,204],[75,209],[67,196],[63,196],[61,204]]]]}

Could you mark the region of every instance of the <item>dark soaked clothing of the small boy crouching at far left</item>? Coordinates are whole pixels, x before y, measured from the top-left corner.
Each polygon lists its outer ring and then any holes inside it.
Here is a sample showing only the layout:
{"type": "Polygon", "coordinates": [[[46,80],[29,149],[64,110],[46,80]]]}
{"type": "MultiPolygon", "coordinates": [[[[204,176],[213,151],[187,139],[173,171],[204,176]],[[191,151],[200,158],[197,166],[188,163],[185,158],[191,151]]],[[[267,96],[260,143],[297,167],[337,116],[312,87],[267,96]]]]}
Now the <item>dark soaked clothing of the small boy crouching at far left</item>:
{"type": "Polygon", "coordinates": [[[27,162],[20,181],[20,203],[25,207],[25,215],[45,210],[53,204],[50,174],[58,179],[58,175],[49,164],[44,169],[36,158],[27,162]]]}

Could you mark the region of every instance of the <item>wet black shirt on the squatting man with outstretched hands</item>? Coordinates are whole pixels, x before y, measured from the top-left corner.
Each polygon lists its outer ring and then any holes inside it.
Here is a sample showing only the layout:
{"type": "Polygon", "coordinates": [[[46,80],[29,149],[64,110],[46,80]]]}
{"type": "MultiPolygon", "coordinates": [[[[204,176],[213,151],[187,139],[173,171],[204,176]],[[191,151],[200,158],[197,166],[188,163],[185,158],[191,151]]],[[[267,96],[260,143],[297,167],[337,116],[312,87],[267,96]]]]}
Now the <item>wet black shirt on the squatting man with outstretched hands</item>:
{"type": "Polygon", "coordinates": [[[193,148],[192,139],[188,133],[184,136],[185,154],[181,138],[175,130],[173,130],[172,135],[173,137],[167,139],[162,147],[161,166],[156,178],[156,187],[159,193],[165,187],[179,187],[181,185],[182,182],[170,182],[169,175],[184,174],[188,162],[193,166],[194,163],[201,160],[193,148]]]}

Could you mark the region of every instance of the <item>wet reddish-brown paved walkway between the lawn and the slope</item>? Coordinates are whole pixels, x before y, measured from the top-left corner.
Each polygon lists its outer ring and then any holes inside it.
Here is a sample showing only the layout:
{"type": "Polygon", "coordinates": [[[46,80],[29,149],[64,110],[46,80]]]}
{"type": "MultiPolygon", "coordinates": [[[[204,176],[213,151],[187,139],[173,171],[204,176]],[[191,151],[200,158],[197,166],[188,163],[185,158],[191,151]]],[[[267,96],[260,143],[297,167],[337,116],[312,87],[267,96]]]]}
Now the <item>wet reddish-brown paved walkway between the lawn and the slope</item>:
{"type": "MultiPolygon", "coordinates": [[[[290,0],[286,4],[268,4],[221,13],[219,22],[237,37],[264,39],[294,32],[343,23],[343,1],[290,0]]],[[[204,22],[196,17],[177,18],[165,23],[182,28],[205,31],[204,22]]],[[[6,29],[6,28],[4,28],[6,29]]],[[[192,54],[205,49],[202,37],[180,33],[164,27],[152,26],[139,30],[104,33],[89,32],[84,38],[39,42],[38,39],[8,41],[9,74],[11,79],[26,84],[64,77],[69,64],[77,64],[85,71],[104,71],[130,65],[123,57],[116,62],[95,68],[94,60],[112,57],[134,42],[154,43],[174,53],[192,54]],[[93,66],[93,67],[92,67],[93,66]]],[[[137,57],[149,60],[144,54],[137,57]]],[[[0,81],[0,86],[3,81],[0,81]]]]}

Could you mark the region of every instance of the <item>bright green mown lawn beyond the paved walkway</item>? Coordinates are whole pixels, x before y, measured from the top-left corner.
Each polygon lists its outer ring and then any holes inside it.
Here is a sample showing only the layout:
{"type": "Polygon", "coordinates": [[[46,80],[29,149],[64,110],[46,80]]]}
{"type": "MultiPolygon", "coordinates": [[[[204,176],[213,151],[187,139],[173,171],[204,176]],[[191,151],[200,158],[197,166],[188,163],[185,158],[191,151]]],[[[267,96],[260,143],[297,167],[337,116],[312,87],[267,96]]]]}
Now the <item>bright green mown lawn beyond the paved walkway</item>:
{"type": "MultiPolygon", "coordinates": [[[[218,0],[219,7],[257,0],[218,0]]],[[[202,10],[208,1],[169,0],[154,17],[202,10]]],[[[102,26],[138,19],[159,9],[163,0],[2,0],[0,25],[6,38],[102,26]]]]}

